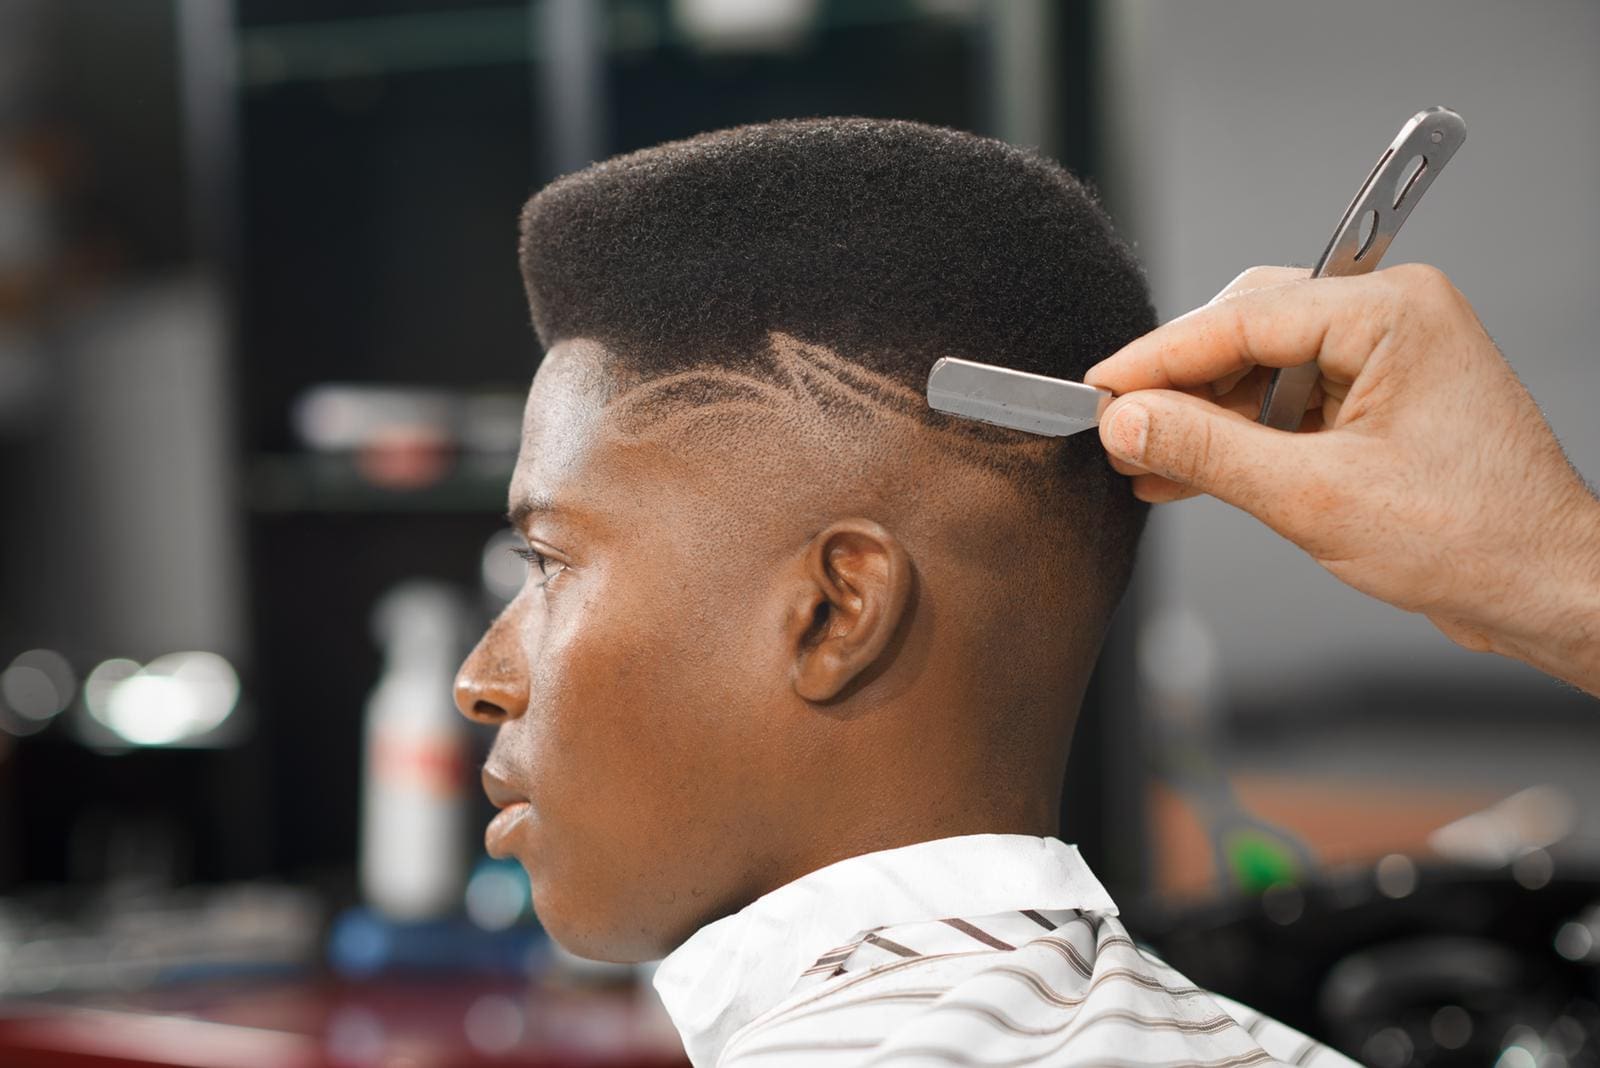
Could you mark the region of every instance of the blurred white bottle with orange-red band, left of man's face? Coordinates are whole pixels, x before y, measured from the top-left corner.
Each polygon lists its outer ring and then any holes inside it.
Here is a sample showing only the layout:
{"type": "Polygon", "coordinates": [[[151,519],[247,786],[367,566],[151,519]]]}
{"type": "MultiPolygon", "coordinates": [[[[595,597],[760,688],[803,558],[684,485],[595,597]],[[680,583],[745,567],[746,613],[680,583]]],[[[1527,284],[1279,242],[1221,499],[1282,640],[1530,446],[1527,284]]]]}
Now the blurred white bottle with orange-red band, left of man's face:
{"type": "Polygon", "coordinates": [[[450,703],[466,609],[451,587],[408,582],[373,628],[384,673],[366,702],[362,894],[392,919],[446,916],[467,883],[467,724],[450,703]]]}

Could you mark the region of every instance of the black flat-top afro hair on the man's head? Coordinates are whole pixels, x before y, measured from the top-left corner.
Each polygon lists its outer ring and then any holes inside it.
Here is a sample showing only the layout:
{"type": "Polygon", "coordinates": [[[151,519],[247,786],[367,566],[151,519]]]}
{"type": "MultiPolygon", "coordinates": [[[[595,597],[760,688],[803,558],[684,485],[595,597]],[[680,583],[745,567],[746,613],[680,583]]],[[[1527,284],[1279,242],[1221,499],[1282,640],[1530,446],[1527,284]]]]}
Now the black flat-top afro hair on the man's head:
{"type": "MultiPolygon", "coordinates": [[[[819,118],[701,134],[562,177],[522,216],[539,341],[605,344],[643,381],[763,377],[774,333],[917,395],[939,357],[1082,379],[1155,326],[1139,265],[1058,163],[910,122],[819,118]]],[[[710,398],[707,398],[710,400],[710,398]]],[[[1019,432],[915,404],[984,443],[1019,432]]],[[[1120,596],[1146,505],[1093,432],[1014,470],[1120,596]]]]}

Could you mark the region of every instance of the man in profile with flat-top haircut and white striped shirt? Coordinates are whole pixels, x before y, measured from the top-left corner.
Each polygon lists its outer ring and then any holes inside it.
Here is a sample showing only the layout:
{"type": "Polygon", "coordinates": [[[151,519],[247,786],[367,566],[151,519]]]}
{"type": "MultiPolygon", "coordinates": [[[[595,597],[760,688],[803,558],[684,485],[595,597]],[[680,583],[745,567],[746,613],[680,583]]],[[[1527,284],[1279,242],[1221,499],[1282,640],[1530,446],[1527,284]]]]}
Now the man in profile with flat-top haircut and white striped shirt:
{"type": "Polygon", "coordinates": [[[928,408],[1155,325],[1058,165],[746,126],[526,206],[528,582],[461,668],[496,855],[582,956],[667,956],[696,1065],[1347,1063],[1139,951],[1054,838],[1146,505],[1094,435],[928,408]]]}

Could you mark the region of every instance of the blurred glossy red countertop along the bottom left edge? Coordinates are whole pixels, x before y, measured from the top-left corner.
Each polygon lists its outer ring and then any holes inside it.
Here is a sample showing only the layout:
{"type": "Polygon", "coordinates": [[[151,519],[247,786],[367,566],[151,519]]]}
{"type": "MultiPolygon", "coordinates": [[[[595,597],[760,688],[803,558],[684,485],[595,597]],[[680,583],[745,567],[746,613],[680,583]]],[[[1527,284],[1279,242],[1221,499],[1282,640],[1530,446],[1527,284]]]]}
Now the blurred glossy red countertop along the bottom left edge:
{"type": "Polygon", "coordinates": [[[648,991],[477,982],[194,985],[0,1006],[5,1068],[686,1065],[648,991]]]}

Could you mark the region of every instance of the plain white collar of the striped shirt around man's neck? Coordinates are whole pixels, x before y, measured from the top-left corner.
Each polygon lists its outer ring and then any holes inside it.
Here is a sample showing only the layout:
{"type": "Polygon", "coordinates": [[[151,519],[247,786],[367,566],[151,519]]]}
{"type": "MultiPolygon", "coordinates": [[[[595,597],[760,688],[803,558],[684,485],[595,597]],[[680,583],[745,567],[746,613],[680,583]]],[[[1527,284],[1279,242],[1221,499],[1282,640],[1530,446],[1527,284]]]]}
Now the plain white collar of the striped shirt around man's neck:
{"type": "Polygon", "coordinates": [[[710,1065],[774,1007],[822,953],[890,924],[1013,908],[1117,907],[1077,846],[1026,835],[965,835],[840,860],[701,927],[656,970],[694,1065],[710,1065]]]}

